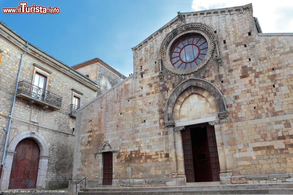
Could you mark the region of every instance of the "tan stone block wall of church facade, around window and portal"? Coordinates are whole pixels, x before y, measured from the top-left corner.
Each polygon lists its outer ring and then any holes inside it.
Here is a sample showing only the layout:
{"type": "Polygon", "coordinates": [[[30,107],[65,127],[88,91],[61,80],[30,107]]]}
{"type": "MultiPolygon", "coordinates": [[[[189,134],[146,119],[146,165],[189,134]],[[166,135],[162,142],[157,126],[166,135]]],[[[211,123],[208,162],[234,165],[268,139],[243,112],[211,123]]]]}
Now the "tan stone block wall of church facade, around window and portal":
{"type": "Polygon", "coordinates": [[[160,73],[159,49],[166,35],[182,25],[178,18],[134,47],[133,76],[78,113],[73,179],[101,179],[97,152],[105,142],[118,151],[113,180],[126,179],[127,167],[132,167],[132,179],[178,173],[174,143],[180,140],[165,127],[164,107],[176,86],[189,78],[211,82],[224,96],[228,118],[221,120],[219,134],[225,157],[220,164],[226,170],[233,176],[293,172],[293,37],[258,34],[251,6],[183,15],[185,24],[212,28],[222,66],[214,54],[195,73],[175,75],[164,67],[160,73]]]}

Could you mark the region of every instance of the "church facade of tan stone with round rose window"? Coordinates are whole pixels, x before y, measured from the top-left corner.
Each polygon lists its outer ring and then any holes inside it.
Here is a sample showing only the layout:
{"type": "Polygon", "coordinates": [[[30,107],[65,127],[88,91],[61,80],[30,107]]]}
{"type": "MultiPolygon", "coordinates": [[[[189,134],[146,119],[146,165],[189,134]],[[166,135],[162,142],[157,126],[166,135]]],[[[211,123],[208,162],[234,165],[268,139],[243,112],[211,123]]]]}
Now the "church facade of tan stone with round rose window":
{"type": "Polygon", "coordinates": [[[132,48],[132,76],[77,112],[72,179],[293,181],[292,35],[262,33],[251,4],[179,12],[132,48]]]}

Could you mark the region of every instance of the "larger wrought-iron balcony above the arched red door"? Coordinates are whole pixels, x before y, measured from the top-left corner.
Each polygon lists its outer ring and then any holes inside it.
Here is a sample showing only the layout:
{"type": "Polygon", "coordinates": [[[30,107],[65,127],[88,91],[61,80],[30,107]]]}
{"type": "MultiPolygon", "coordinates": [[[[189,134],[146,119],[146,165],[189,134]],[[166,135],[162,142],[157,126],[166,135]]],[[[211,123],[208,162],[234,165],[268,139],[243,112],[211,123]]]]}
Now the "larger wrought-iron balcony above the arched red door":
{"type": "Polygon", "coordinates": [[[18,83],[16,97],[28,100],[31,103],[38,103],[43,108],[51,108],[53,110],[60,110],[62,105],[61,96],[48,92],[26,81],[18,83]]]}

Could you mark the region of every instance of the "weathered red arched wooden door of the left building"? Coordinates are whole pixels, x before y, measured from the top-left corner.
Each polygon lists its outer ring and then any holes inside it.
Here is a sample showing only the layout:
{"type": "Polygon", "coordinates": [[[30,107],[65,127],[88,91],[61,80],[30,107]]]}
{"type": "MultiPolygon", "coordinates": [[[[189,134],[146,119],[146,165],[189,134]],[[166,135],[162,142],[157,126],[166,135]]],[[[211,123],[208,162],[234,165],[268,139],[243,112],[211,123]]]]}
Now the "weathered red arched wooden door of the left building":
{"type": "Polygon", "coordinates": [[[36,187],[40,148],[33,139],[21,140],[13,156],[8,189],[36,187]]]}

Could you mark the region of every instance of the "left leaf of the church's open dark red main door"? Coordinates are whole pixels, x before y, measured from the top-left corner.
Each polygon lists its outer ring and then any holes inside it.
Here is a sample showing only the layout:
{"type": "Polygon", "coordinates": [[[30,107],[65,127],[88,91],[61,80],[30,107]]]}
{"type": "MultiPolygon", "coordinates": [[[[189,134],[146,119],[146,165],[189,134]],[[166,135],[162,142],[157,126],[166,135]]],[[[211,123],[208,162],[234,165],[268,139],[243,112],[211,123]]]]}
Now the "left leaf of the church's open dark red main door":
{"type": "Polygon", "coordinates": [[[183,144],[183,156],[184,156],[184,168],[185,168],[186,181],[195,182],[190,129],[185,129],[181,131],[181,135],[182,135],[182,144],[183,144]]]}

